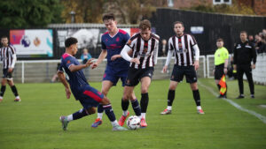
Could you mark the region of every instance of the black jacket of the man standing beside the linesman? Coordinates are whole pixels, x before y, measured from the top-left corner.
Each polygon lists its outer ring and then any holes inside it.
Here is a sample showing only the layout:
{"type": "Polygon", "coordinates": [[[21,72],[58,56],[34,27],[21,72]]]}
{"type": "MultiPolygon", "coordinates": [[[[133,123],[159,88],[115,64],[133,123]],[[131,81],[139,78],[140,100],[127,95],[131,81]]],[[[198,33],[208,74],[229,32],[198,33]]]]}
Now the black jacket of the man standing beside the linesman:
{"type": "Polygon", "coordinates": [[[234,48],[234,64],[250,64],[251,61],[256,63],[256,51],[251,42],[239,41],[234,48]]]}

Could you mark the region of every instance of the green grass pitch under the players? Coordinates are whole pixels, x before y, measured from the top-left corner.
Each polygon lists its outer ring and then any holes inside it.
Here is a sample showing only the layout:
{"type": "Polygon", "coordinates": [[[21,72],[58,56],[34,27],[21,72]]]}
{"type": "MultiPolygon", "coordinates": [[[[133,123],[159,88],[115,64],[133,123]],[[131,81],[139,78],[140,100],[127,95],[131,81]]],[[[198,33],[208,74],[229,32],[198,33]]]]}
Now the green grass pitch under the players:
{"type": "MultiPolygon", "coordinates": [[[[217,93],[214,79],[200,78],[200,83],[217,93]]],[[[266,123],[240,111],[226,101],[215,98],[200,87],[205,115],[198,115],[188,84],[177,86],[172,115],[160,115],[167,106],[169,80],[153,80],[149,89],[146,115],[148,127],[139,130],[112,131],[106,115],[97,129],[90,124],[97,115],[89,115],[61,129],[60,115],[82,108],[78,101],[66,99],[65,90],[56,84],[17,84],[21,102],[14,102],[7,87],[0,103],[0,149],[262,149],[266,148],[266,123]]],[[[243,108],[266,115],[266,86],[255,86],[255,99],[235,100],[238,82],[228,82],[228,98],[243,108]]],[[[98,90],[101,83],[90,83],[98,90]]],[[[139,86],[136,88],[140,100],[139,86]]],[[[245,82],[245,94],[249,89],[245,82]]],[[[113,87],[107,95],[116,119],[121,116],[122,87],[113,87]]],[[[130,115],[134,112],[129,105],[130,115]]],[[[125,126],[126,127],[126,126],[125,126]]]]}

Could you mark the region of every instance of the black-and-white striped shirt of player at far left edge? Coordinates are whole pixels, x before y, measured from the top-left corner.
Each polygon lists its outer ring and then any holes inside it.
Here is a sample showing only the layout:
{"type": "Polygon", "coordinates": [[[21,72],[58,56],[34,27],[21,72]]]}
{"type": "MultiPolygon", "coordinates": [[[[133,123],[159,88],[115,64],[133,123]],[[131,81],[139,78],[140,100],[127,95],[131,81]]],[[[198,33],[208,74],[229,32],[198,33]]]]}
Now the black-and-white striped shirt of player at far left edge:
{"type": "Polygon", "coordinates": [[[14,68],[17,60],[15,48],[12,45],[0,48],[0,58],[3,62],[3,69],[14,68]]]}

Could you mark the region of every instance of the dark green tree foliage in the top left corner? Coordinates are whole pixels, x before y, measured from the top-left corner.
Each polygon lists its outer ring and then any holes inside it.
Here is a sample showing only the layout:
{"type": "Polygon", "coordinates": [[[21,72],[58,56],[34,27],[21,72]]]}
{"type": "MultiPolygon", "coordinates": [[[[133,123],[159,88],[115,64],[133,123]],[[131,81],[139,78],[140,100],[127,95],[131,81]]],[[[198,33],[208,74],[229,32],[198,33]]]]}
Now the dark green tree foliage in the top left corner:
{"type": "Polygon", "coordinates": [[[59,0],[8,0],[0,3],[1,28],[43,27],[61,22],[59,0]]]}

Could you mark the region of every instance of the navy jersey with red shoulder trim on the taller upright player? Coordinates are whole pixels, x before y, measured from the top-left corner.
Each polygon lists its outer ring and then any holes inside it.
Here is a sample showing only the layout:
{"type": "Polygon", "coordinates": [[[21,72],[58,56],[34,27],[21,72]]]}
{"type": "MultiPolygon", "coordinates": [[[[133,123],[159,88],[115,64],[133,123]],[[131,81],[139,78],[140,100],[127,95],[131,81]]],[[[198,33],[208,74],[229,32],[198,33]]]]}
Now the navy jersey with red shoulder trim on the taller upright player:
{"type": "Polygon", "coordinates": [[[129,62],[123,58],[117,58],[111,61],[112,56],[120,55],[122,48],[129,41],[129,38],[129,34],[121,29],[113,37],[108,32],[102,35],[102,49],[107,50],[107,67],[111,67],[113,71],[129,70],[129,62]]]}

